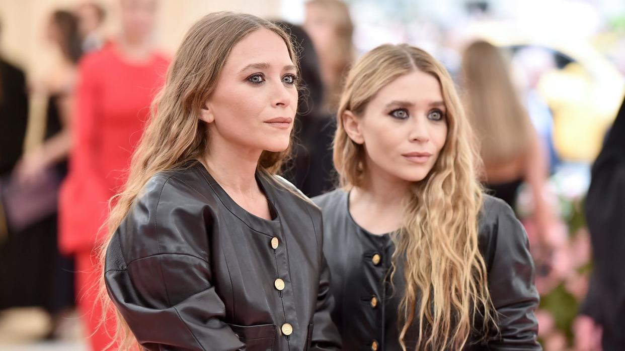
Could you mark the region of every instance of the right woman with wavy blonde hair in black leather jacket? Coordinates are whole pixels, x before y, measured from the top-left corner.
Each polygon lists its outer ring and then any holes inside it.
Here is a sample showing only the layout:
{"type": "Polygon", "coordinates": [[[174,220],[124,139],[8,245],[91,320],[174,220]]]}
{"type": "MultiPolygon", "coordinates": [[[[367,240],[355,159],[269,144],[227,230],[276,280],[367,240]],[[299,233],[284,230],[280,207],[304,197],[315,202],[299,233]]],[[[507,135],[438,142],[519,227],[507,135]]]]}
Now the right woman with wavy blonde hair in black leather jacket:
{"type": "Polygon", "coordinates": [[[322,208],[344,350],[539,350],[527,236],[483,195],[451,77],[416,47],[356,62],[322,208]]]}

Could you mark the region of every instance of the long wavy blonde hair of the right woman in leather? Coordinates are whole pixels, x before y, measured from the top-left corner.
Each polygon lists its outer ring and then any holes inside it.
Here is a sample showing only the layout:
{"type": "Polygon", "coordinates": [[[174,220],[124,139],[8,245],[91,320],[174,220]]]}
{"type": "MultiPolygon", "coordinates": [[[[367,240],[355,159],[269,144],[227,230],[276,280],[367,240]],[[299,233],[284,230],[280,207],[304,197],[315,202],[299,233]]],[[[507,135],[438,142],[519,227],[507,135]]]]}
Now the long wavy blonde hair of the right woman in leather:
{"type": "Polygon", "coordinates": [[[399,305],[399,341],[406,350],[407,331],[418,322],[417,350],[461,349],[470,334],[486,337],[496,322],[486,264],[477,245],[482,189],[476,178],[476,152],[447,70],[427,52],[407,44],[386,44],[364,54],[347,75],[341,97],[334,165],[342,186],[364,185],[365,151],[347,136],[341,116],[347,110],[362,115],[382,87],[415,70],[441,84],[447,139],[426,178],[412,184],[402,229],[392,236],[396,251],[391,277],[402,265],[406,281],[399,305]],[[480,330],[474,330],[476,315],[484,320],[480,330]]]}

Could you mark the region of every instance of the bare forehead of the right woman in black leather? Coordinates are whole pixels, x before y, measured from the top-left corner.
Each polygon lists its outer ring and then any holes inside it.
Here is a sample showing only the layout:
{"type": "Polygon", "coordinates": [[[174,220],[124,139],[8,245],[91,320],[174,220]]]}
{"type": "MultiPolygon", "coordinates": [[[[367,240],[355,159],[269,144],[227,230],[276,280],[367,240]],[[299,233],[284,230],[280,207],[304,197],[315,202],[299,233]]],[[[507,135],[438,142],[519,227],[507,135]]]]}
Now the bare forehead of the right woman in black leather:
{"type": "Polygon", "coordinates": [[[386,104],[391,100],[423,105],[443,101],[441,84],[431,74],[416,70],[401,75],[380,89],[371,103],[386,104]]]}

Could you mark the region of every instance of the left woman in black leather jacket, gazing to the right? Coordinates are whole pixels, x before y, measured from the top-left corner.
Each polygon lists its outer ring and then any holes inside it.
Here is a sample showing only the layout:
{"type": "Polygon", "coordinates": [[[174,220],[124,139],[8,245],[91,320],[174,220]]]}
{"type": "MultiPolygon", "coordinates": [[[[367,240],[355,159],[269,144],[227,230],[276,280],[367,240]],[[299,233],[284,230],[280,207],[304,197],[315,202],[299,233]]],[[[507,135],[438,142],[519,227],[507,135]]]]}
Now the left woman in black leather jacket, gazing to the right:
{"type": "Polygon", "coordinates": [[[121,349],[339,349],[321,211],[275,176],[297,72],[289,36],[259,17],[187,32],[109,219],[121,349]]]}

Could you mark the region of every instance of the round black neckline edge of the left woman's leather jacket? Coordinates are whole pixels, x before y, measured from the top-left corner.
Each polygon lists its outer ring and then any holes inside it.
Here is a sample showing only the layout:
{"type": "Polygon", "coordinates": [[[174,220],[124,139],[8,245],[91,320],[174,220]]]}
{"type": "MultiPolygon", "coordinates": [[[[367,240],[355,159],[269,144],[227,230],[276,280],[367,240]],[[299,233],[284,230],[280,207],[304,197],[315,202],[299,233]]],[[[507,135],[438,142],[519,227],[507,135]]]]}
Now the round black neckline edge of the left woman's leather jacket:
{"type": "Polygon", "coordinates": [[[196,166],[200,168],[202,175],[206,178],[206,181],[212,191],[217,195],[217,198],[219,198],[221,203],[226,206],[228,211],[234,214],[237,218],[241,219],[241,221],[246,223],[255,231],[272,236],[276,235],[276,231],[279,231],[280,228],[280,213],[277,210],[275,201],[273,200],[275,194],[272,191],[272,186],[262,177],[262,175],[259,174],[258,171],[254,174],[254,178],[256,178],[257,185],[267,199],[267,205],[269,206],[269,213],[271,214],[272,219],[261,218],[242,208],[231,198],[230,195],[228,195],[226,190],[224,190],[224,188],[217,183],[204,164],[196,160],[196,166]]]}

